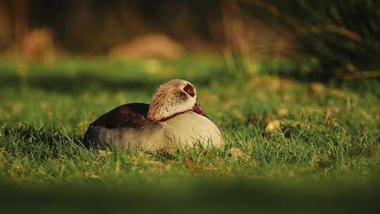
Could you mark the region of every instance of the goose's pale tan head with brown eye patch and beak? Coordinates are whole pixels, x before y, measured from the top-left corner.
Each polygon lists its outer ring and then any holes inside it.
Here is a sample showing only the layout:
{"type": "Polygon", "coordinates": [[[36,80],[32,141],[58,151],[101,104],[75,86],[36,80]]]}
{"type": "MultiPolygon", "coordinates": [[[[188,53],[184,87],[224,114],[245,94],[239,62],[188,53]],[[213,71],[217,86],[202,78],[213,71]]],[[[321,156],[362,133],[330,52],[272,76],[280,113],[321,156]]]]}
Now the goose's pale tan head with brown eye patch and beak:
{"type": "Polygon", "coordinates": [[[190,82],[168,80],[161,84],[153,94],[148,119],[163,122],[187,111],[194,111],[205,116],[196,95],[196,89],[190,82]]]}

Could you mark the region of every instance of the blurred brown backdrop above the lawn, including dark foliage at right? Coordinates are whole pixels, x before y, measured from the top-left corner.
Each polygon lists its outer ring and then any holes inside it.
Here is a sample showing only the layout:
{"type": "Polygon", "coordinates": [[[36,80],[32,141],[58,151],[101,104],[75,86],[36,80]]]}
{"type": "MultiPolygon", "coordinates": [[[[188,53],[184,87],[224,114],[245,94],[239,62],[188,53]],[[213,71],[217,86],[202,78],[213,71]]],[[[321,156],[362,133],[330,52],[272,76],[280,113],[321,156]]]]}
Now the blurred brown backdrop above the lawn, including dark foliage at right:
{"type": "Polygon", "coordinates": [[[246,61],[252,58],[291,57],[297,67],[278,73],[317,80],[379,77],[376,0],[2,0],[0,8],[0,51],[29,59],[208,52],[243,61],[251,73],[246,61]]]}

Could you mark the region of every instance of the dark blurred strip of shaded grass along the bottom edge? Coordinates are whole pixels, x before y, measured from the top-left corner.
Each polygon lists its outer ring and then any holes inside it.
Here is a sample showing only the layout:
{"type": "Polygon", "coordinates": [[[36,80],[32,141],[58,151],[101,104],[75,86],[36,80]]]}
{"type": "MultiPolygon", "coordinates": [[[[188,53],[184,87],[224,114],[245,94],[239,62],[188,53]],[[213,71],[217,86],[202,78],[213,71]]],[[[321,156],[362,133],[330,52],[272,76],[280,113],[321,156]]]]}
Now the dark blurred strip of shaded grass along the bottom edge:
{"type": "Polygon", "coordinates": [[[15,187],[0,184],[0,210],[27,213],[376,213],[379,183],[182,180],[15,187]],[[370,187],[371,186],[371,187],[370,187]],[[111,187],[111,188],[110,188],[111,187]],[[142,188],[141,188],[142,187],[142,188]]]}

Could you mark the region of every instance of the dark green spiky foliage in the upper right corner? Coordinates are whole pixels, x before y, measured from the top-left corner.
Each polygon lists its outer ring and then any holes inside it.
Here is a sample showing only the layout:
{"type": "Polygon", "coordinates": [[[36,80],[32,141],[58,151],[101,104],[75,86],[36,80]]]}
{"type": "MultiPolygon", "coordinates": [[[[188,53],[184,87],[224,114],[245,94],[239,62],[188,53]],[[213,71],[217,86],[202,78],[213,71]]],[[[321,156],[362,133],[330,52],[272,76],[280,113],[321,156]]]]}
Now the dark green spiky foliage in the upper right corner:
{"type": "Polygon", "coordinates": [[[379,78],[380,1],[239,1],[248,20],[280,32],[296,53],[272,73],[306,80],[379,78]]]}

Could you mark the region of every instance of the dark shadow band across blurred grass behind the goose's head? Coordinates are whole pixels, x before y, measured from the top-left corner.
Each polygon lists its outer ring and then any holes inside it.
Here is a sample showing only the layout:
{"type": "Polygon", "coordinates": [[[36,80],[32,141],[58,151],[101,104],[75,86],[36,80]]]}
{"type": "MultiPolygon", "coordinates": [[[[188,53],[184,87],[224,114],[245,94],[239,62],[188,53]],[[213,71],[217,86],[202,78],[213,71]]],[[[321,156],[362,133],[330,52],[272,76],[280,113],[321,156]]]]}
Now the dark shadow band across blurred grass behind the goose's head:
{"type": "MultiPolygon", "coordinates": [[[[207,75],[194,78],[186,78],[184,75],[177,75],[172,78],[189,80],[193,84],[196,84],[196,86],[205,87],[215,80],[215,77],[221,77],[222,75],[218,75],[220,73],[222,71],[210,71],[207,75]]],[[[58,92],[61,94],[77,94],[78,92],[101,90],[111,92],[139,91],[151,94],[166,80],[167,78],[164,79],[159,76],[134,75],[131,78],[108,76],[106,74],[90,73],[85,70],[75,75],[68,75],[63,71],[61,73],[31,74],[26,77],[20,77],[15,73],[3,73],[0,75],[0,88],[18,88],[25,85],[35,89],[42,89],[46,92],[58,92]]]]}

